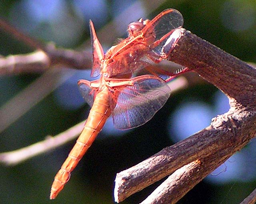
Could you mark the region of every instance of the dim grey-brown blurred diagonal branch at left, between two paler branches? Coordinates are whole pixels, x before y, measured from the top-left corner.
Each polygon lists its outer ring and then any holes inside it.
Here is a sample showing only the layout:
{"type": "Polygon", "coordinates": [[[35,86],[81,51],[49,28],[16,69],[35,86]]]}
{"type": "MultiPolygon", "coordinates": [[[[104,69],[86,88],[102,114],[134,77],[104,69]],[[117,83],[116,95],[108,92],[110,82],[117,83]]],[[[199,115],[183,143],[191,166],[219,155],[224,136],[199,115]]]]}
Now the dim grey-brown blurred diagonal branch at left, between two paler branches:
{"type": "Polygon", "coordinates": [[[28,87],[8,100],[0,107],[0,132],[8,128],[71,76],[72,72],[67,69],[48,70],[29,84],[28,87]]]}

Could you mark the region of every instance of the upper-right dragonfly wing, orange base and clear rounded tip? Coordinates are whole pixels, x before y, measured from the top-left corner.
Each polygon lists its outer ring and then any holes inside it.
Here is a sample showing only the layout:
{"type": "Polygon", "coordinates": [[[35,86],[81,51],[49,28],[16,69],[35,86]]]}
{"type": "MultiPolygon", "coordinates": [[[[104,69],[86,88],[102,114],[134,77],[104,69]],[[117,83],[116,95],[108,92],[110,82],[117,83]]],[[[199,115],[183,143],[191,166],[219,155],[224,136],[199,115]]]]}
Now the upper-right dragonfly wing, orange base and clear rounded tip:
{"type": "MultiPolygon", "coordinates": [[[[110,53],[107,73],[110,76],[132,73],[162,61],[162,50],[172,32],[183,25],[182,14],[167,9],[148,22],[140,31],[124,39],[110,53]]],[[[168,46],[170,43],[168,43],[168,46]]]]}

